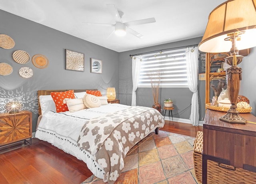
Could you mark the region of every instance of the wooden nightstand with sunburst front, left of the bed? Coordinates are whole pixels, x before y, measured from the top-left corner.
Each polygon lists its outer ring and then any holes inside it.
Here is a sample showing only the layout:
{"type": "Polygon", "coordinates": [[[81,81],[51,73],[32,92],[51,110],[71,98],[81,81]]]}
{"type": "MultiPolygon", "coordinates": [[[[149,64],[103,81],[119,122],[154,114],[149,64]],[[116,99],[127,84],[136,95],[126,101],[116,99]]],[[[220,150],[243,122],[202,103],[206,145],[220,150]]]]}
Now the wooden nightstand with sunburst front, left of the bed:
{"type": "Polygon", "coordinates": [[[0,113],[0,154],[31,145],[32,113],[0,113]],[[26,139],[30,139],[30,142],[26,139]],[[24,142],[23,142],[24,141],[24,142]]]}

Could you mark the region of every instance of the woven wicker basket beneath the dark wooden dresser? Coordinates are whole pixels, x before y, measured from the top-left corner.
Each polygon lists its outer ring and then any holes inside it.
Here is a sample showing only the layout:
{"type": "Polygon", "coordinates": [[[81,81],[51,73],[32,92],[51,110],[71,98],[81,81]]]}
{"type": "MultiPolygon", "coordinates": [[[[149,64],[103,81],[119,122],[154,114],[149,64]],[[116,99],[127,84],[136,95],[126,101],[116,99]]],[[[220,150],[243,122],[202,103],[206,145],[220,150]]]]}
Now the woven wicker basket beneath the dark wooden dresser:
{"type": "MultiPolygon", "coordinates": [[[[194,142],[193,159],[196,179],[202,183],[203,132],[198,131],[194,142]]],[[[207,161],[207,184],[256,184],[256,173],[225,164],[207,161]]]]}

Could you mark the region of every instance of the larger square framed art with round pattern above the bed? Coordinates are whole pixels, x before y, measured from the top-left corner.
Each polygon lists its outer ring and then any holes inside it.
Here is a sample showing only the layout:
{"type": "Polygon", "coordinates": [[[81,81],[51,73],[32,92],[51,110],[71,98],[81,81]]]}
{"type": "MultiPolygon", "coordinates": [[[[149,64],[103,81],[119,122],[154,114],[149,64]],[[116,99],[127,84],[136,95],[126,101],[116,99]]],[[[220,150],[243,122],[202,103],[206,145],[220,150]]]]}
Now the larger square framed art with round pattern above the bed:
{"type": "Polygon", "coordinates": [[[66,49],[66,70],[84,71],[84,54],[66,49]]]}

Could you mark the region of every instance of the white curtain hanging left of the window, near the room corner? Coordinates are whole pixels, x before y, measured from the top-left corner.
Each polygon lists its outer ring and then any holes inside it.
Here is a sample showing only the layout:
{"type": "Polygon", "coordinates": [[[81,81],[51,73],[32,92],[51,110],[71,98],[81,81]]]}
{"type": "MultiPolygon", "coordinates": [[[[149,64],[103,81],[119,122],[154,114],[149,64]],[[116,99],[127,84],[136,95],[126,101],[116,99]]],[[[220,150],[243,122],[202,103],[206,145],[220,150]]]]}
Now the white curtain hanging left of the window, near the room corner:
{"type": "Polygon", "coordinates": [[[132,106],[136,106],[136,90],[138,88],[140,79],[140,65],[142,55],[136,56],[136,59],[132,58],[132,106]]]}

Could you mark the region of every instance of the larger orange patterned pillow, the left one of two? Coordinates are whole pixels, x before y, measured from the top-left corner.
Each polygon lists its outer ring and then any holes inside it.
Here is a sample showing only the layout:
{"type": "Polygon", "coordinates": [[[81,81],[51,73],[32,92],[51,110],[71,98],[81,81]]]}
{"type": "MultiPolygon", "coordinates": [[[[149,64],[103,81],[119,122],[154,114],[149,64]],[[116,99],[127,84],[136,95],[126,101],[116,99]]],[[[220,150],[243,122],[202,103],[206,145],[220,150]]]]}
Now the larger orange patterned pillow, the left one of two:
{"type": "Polygon", "coordinates": [[[63,103],[63,100],[65,98],[68,98],[68,99],[76,98],[74,95],[74,90],[64,91],[64,92],[51,92],[51,95],[55,103],[57,113],[68,111],[67,104],[63,103]]]}

